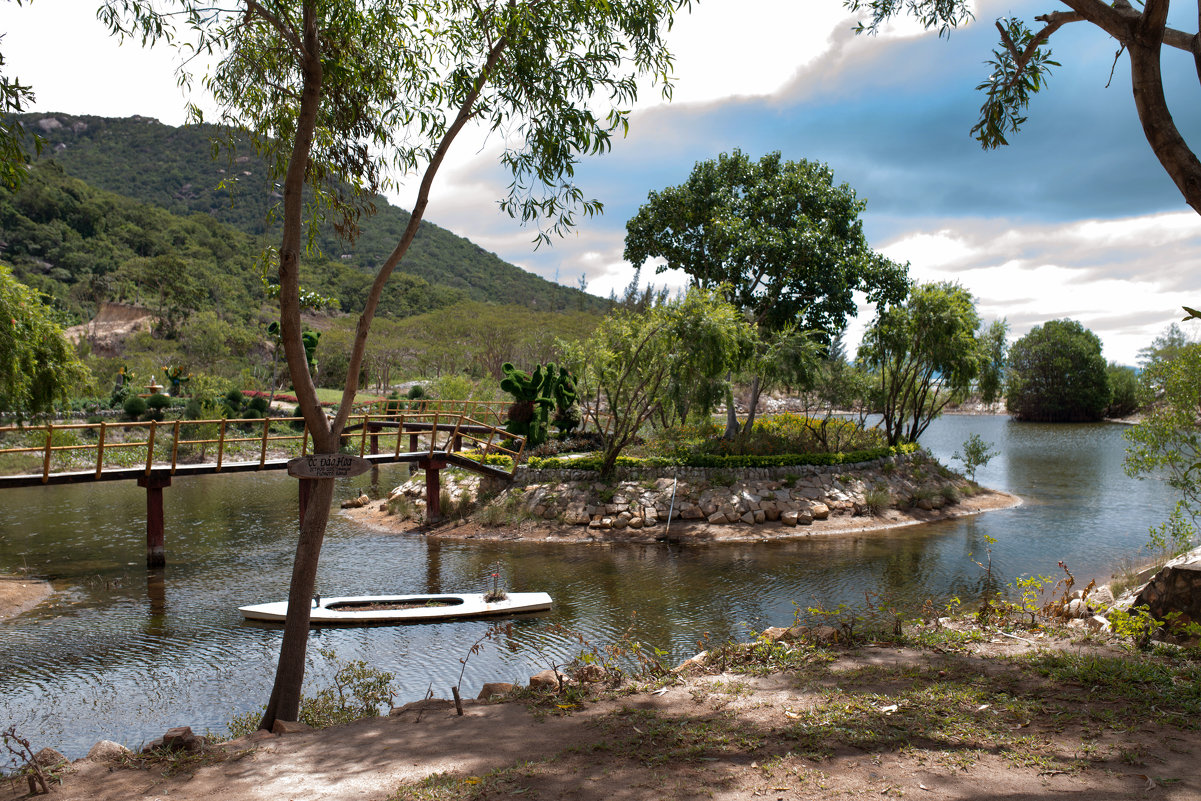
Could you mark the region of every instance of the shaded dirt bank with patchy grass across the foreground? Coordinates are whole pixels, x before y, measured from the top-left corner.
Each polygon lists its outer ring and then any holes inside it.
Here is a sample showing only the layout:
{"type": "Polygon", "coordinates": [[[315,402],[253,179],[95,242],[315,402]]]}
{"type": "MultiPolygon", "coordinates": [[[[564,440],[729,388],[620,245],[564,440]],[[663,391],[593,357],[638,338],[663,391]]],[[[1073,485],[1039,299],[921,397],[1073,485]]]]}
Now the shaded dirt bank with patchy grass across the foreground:
{"type": "MultiPolygon", "coordinates": [[[[741,665],[600,700],[568,692],[472,703],[462,717],[410,710],[234,742],[191,764],[80,760],[49,797],[1201,799],[1195,693],[1173,709],[1178,691],[1146,668],[1091,681],[1099,666],[1121,673],[1129,654],[1030,638],[1041,635],[985,634],[963,647],[794,644],[761,660],[751,648],[741,665]]],[[[4,801],[24,794],[23,782],[0,782],[4,801]]]]}

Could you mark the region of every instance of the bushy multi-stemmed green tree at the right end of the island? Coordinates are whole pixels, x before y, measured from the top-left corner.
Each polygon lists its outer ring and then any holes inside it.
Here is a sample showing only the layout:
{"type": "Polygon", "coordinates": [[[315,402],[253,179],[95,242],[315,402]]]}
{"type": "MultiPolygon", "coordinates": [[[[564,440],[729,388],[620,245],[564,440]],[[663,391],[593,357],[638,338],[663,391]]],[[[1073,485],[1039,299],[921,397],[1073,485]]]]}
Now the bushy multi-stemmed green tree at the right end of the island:
{"type": "Polygon", "coordinates": [[[876,372],[889,444],[916,442],[943,408],[967,396],[985,360],[975,301],[956,283],[922,283],[880,311],[859,359],[876,372]]]}

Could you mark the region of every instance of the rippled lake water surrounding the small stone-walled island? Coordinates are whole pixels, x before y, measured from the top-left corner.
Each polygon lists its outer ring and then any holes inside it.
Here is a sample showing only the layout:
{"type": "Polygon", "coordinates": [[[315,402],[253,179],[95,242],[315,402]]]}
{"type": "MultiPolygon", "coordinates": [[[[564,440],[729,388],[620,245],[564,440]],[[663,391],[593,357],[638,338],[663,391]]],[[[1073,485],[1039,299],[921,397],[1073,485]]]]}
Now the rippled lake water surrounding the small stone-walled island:
{"type": "MultiPolygon", "coordinates": [[[[1000,581],[1057,574],[1104,579],[1137,558],[1147,527],[1173,498],[1122,471],[1123,426],[1039,425],[1004,417],[945,417],[925,444],[940,461],[970,434],[1000,455],[976,476],[1023,504],[974,518],[838,539],[680,549],[542,543],[432,544],[363,531],[334,515],[322,551],[323,594],[482,591],[494,564],[515,591],[545,591],[549,614],[460,662],[485,622],[315,629],[309,681],[328,683],[329,648],[392,671],[396,703],[432,688],[465,695],[486,681],[522,681],[626,632],[683,659],[711,641],[788,624],[813,605],[862,604],[865,592],[916,608],[979,598],[986,537],[1000,581]]],[[[389,473],[389,470],[393,472],[389,473]]],[[[381,484],[399,483],[382,468],[381,484]]],[[[355,495],[369,477],[346,482],[355,495]]],[[[0,573],[28,567],[64,591],[0,621],[0,728],[35,747],[79,757],[101,739],[131,747],[173,725],[223,731],[270,692],[281,629],[250,624],[239,605],[287,597],[297,489],[283,473],[179,479],[163,492],[166,570],[144,567],[145,496],[132,483],[6,490],[0,495],[0,573]]]]}

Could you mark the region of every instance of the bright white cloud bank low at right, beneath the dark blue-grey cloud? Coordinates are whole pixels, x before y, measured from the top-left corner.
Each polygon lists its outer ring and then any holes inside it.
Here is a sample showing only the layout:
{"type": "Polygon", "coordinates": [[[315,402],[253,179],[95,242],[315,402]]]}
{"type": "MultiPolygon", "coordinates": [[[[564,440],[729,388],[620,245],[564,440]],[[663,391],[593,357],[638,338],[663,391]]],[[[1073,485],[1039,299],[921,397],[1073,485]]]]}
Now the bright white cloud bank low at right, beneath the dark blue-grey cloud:
{"type": "Polygon", "coordinates": [[[912,262],[919,281],[958,281],[982,317],[1009,318],[1011,337],[1069,317],[1123,364],[1201,297],[1201,220],[1193,211],[1059,225],[960,220],[882,250],[912,262]]]}

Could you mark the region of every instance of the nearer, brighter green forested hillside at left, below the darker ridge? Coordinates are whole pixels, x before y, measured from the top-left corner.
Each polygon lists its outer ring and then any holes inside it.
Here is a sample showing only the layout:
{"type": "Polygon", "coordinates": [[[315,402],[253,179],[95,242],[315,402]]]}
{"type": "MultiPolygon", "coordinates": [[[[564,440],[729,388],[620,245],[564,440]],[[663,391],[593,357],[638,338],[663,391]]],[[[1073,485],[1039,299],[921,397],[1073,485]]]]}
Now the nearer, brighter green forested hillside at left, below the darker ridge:
{"type": "MultiPolygon", "coordinates": [[[[256,267],[265,243],[210,215],[179,216],[94,189],[64,174],[58,162],[37,165],[16,193],[0,189],[0,258],[18,280],[49,295],[66,324],[89,318],[102,300],[150,307],[168,336],[197,311],[256,317],[265,300],[256,267]]],[[[345,310],[363,306],[371,281],[366,271],[327,258],[306,259],[301,275],[345,310]]],[[[399,274],[380,312],[407,317],[462,297],[399,274]]]]}

